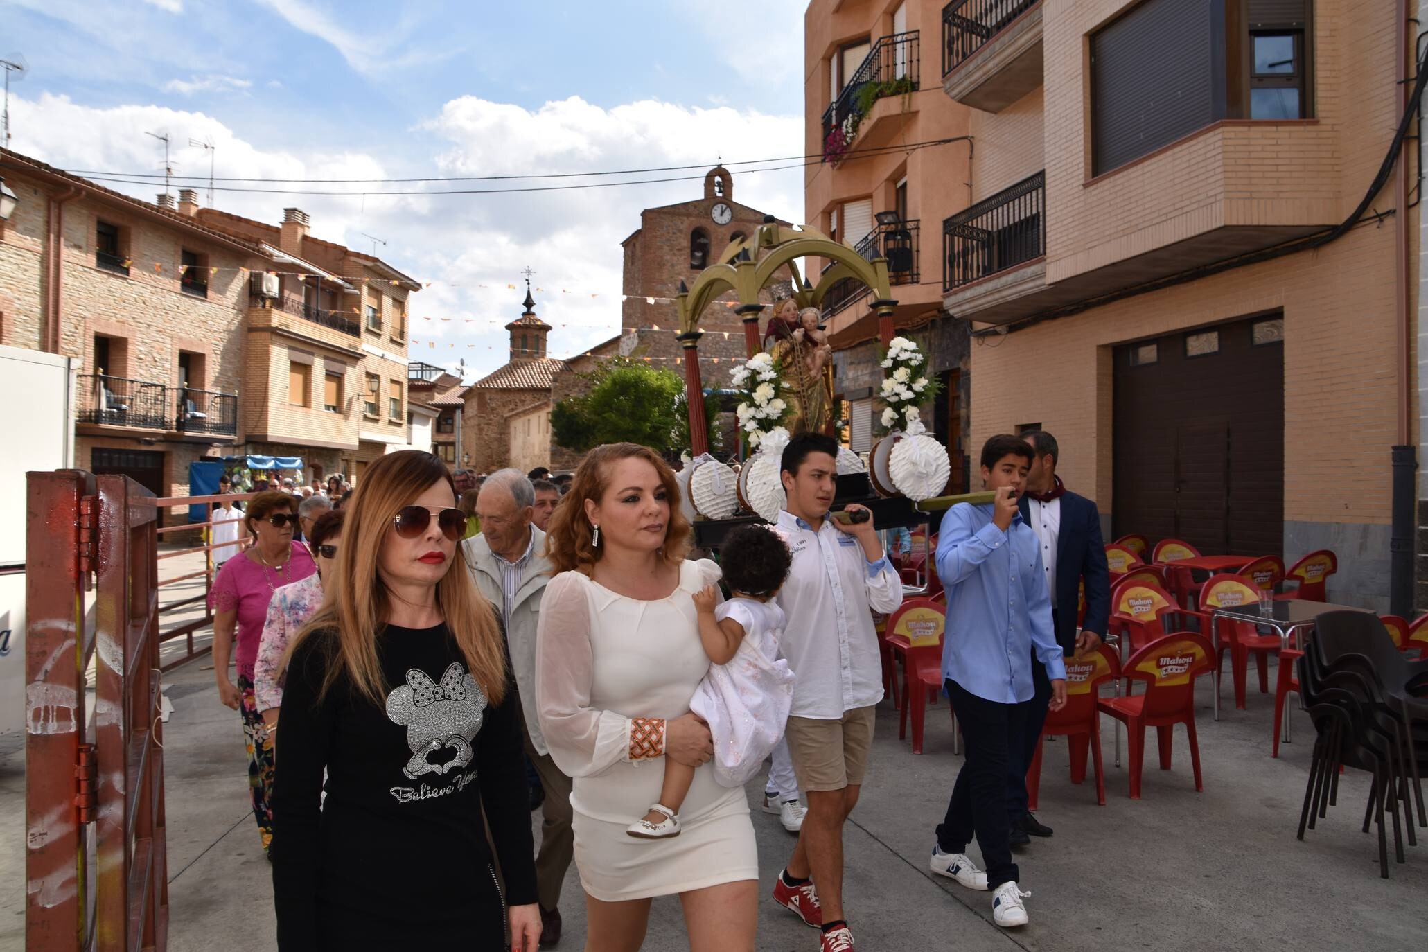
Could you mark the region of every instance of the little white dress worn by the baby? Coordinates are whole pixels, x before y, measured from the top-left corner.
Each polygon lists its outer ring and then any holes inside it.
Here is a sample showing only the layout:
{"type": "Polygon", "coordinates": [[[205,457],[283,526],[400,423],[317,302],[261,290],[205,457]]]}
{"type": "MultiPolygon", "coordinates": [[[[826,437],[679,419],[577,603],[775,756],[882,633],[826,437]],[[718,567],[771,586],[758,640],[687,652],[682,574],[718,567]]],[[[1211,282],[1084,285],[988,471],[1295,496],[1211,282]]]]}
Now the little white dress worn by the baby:
{"type": "Polygon", "coordinates": [[[714,735],[714,779],[743,786],[764,769],[764,758],[778,746],[794,702],[794,672],[778,658],[784,609],[774,602],[731,598],[714,609],[714,617],[743,625],[744,641],[725,664],[710,665],[690,709],[708,721],[714,735]]]}

